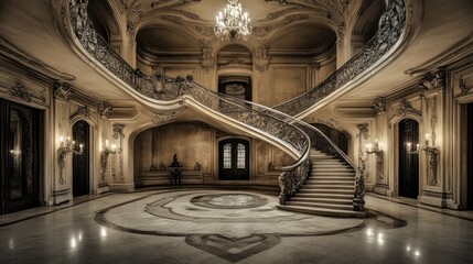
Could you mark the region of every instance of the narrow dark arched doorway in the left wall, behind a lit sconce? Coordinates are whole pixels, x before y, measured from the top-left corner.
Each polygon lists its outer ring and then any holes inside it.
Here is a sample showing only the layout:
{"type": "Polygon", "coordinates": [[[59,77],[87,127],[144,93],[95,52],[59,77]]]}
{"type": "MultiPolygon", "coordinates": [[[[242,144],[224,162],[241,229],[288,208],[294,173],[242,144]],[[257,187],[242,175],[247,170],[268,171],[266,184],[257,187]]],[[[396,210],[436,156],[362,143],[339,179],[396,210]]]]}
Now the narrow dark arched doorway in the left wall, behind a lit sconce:
{"type": "Polygon", "coordinates": [[[73,196],[89,194],[89,124],[83,120],[73,125],[76,146],[84,144],[82,155],[73,155],[73,196]]]}

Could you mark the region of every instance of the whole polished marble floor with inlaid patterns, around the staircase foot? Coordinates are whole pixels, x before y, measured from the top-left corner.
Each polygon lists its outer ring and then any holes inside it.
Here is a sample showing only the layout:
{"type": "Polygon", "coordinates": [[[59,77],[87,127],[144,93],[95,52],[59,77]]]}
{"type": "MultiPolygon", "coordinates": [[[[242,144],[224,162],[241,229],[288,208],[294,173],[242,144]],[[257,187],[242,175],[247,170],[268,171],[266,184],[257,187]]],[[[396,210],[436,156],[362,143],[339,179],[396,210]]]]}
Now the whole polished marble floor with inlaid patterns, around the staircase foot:
{"type": "Polygon", "coordinates": [[[370,217],[256,190],[148,190],[0,216],[0,263],[472,263],[473,218],[366,198],[370,217]]]}

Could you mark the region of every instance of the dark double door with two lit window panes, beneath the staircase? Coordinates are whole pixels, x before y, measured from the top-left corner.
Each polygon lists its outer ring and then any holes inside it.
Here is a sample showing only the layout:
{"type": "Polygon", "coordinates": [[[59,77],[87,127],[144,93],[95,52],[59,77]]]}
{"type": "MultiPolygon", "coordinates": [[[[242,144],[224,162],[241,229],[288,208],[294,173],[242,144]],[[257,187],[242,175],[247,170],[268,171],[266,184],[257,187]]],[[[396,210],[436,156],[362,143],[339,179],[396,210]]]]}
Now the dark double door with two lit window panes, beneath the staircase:
{"type": "Polygon", "coordinates": [[[249,142],[240,139],[218,143],[219,179],[249,179],[249,142]]]}

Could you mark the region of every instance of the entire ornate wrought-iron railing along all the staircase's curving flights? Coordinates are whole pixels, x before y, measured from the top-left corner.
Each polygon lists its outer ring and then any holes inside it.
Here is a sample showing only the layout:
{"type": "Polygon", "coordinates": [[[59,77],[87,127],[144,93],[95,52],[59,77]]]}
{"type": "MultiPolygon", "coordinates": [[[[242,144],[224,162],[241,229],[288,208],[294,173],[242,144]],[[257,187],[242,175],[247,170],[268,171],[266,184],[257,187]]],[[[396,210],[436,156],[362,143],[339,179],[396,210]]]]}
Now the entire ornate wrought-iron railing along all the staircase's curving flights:
{"type": "MultiPolygon", "coordinates": [[[[310,166],[310,142],[312,142],[312,146],[329,155],[345,161],[356,170],[353,162],[321,131],[293,119],[292,116],[310,109],[332,92],[343,88],[391,50],[402,34],[406,24],[405,1],[409,0],[386,1],[388,3],[387,9],[380,18],[378,32],[366,43],[364,48],[314,89],[275,107],[276,111],[256,103],[241,103],[217,95],[198,86],[192,78],[170,79],[159,75],[144,75],[132,68],[96,33],[87,14],[88,0],[71,0],[68,11],[72,29],[80,45],[115,76],[139,94],[157,100],[172,100],[184,95],[192,96],[203,107],[262,131],[268,136],[276,136],[298,150],[301,153],[300,158],[293,165],[284,167],[279,177],[281,204],[283,204],[307,178],[310,166]]],[[[357,174],[354,197],[355,209],[363,209],[363,175],[357,174]]]]}

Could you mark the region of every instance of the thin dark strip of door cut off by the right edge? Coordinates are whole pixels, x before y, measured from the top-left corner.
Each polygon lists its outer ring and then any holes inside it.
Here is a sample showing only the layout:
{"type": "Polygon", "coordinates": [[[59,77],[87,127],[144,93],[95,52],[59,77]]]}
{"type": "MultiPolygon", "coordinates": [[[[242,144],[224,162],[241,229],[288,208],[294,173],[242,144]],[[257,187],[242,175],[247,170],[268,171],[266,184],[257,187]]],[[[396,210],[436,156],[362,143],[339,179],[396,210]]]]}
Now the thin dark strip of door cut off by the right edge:
{"type": "Polygon", "coordinates": [[[467,209],[473,209],[473,103],[466,107],[467,209]]]}

